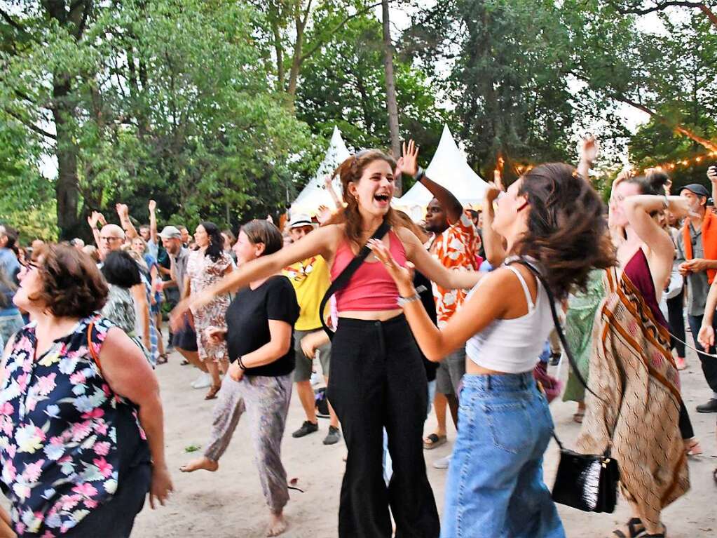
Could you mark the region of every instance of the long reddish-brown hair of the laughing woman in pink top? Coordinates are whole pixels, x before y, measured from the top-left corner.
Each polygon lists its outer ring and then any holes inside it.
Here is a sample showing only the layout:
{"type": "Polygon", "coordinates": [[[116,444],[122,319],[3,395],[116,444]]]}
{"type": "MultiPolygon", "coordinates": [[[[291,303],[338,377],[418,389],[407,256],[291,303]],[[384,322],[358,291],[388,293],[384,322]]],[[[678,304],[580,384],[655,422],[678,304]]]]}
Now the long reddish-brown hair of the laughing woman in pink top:
{"type": "MultiPolygon", "coordinates": [[[[396,169],[396,161],[386,155],[380,149],[364,149],[359,151],[356,155],[350,156],[348,159],[343,161],[336,171],[333,172],[333,179],[339,176],[341,179],[341,187],[343,187],[343,201],[346,202],[346,209],[343,214],[346,218],[346,237],[357,247],[363,246],[361,244],[362,232],[361,230],[361,214],[359,213],[359,201],[353,197],[353,194],[348,192],[349,183],[359,183],[361,176],[366,170],[366,166],[369,166],[374,161],[386,161],[391,166],[391,170],[396,169]]],[[[397,219],[394,209],[389,207],[389,212],[386,213],[386,220],[388,220],[391,227],[401,226],[402,223],[397,219]]]]}

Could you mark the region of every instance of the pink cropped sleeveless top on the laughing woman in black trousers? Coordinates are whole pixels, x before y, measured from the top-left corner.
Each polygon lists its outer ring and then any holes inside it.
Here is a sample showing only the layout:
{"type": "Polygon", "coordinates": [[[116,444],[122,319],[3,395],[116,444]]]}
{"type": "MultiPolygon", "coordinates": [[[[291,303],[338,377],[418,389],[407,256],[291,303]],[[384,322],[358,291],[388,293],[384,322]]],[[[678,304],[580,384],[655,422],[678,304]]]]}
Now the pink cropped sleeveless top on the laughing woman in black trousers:
{"type": "MultiPolygon", "coordinates": [[[[406,251],[399,236],[393,230],[389,231],[391,245],[389,250],[396,263],[406,266],[406,251]]],[[[346,266],[356,255],[351,250],[348,240],[338,245],[336,256],[331,265],[331,280],[336,280],[346,266]]],[[[336,308],[338,312],[351,310],[380,311],[395,310],[398,306],[399,291],[394,279],[391,278],[386,267],[381,262],[361,263],[356,273],[343,290],[336,292],[336,308]]]]}

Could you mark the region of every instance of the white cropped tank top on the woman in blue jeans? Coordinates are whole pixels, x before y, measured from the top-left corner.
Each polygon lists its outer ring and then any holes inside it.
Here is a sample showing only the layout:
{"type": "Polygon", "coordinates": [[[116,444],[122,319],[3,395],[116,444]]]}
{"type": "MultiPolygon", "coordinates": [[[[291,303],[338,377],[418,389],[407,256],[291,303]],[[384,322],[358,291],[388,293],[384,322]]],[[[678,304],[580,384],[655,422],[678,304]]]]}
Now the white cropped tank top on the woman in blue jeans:
{"type": "MultiPolygon", "coordinates": [[[[548,294],[540,280],[538,293],[533,303],[531,292],[521,272],[512,265],[506,265],[521,281],[528,301],[528,313],[515,319],[495,319],[483,331],[474,334],[465,343],[465,353],[478,366],[505,372],[522,374],[530,372],[538,362],[546,340],[553,329],[553,316],[548,294]]],[[[480,280],[466,297],[470,299],[483,280],[480,280]]]]}

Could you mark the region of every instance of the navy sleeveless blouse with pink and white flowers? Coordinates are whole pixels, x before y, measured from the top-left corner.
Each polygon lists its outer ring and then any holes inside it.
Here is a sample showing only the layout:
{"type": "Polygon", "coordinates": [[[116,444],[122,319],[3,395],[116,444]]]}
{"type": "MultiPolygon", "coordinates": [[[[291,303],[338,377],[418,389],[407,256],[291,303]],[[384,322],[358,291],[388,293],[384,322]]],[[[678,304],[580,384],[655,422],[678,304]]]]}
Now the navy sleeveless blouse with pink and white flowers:
{"type": "Polygon", "coordinates": [[[80,320],[37,360],[31,323],[16,334],[2,372],[0,486],[21,536],[63,534],[112,498],[120,471],[118,429],[130,432],[120,444],[148,450],[136,405],[112,392],[92,359],[92,321],[99,356],[113,326],[106,318],[80,320]]]}

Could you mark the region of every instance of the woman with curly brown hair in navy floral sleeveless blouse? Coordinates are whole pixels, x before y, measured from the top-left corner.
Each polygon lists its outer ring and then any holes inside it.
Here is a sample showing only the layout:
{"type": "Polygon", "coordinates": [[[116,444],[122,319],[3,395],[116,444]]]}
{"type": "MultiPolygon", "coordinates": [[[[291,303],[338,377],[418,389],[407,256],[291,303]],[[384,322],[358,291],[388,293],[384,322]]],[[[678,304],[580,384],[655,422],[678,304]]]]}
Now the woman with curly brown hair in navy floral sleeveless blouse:
{"type": "Polygon", "coordinates": [[[156,377],[97,315],[108,288],[92,259],[50,246],[21,273],[30,313],[0,365],[0,467],[24,537],[129,536],[147,492],[172,489],[156,377]]]}

